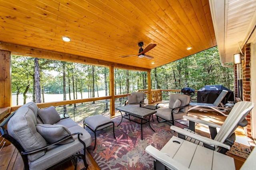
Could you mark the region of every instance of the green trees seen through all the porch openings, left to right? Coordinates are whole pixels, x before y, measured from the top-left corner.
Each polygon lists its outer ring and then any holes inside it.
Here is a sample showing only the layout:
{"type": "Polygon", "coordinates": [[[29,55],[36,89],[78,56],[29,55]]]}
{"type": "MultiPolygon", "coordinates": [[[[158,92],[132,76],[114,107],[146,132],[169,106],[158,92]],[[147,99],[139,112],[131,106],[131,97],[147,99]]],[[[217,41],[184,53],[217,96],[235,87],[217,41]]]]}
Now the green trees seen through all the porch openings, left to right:
{"type": "MultiPolygon", "coordinates": [[[[39,59],[41,88],[44,93],[63,93],[63,62],[39,59]],[[57,73],[52,75],[52,72],[57,73]]],[[[109,92],[109,68],[94,66],[94,88],[92,87],[92,66],[65,62],[66,92],[82,96],[82,92],[92,89],[105,90],[104,73],[107,76],[107,92],[109,92]],[[74,82],[73,82],[74,81],[74,82]],[[74,85],[73,85],[74,84],[74,85]]],[[[182,89],[191,87],[199,90],[205,85],[222,84],[233,90],[233,68],[221,66],[217,47],[196,53],[189,57],[174,61],[152,70],[151,88],[155,85],[161,89],[182,89]],[[156,71],[156,78],[155,78],[156,71]],[[155,82],[156,80],[156,82],[155,82]]],[[[33,92],[34,59],[12,55],[12,92],[23,93],[27,87],[33,92]]],[[[126,94],[147,88],[147,72],[114,69],[115,94],[126,94]],[[128,75],[128,77],[127,77],[128,75]],[[126,81],[128,79],[128,81],[126,81]],[[126,83],[129,82],[129,86],[126,83]],[[127,89],[129,88],[129,89],[127,89]]],[[[97,97],[97,96],[96,96],[97,97]]],[[[73,98],[73,96],[72,96],[73,98]]],[[[47,102],[47,101],[46,101],[47,102]]]]}

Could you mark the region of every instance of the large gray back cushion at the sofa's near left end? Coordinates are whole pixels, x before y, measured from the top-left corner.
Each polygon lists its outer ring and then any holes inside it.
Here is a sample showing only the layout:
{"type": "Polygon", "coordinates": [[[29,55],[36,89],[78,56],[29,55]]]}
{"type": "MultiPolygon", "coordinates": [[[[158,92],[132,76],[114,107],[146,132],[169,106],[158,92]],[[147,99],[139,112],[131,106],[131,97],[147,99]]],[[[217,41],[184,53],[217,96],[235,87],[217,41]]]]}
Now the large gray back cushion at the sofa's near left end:
{"type": "MultiPolygon", "coordinates": [[[[29,107],[20,107],[9,120],[8,133],[20,143],[25,151],[31,151],[46,146],[45,139],[36,131],[36,114],[29,107]]],[[[40,151],[28,155],[30,161],[34,161],[45,154],[40,151]]]]}

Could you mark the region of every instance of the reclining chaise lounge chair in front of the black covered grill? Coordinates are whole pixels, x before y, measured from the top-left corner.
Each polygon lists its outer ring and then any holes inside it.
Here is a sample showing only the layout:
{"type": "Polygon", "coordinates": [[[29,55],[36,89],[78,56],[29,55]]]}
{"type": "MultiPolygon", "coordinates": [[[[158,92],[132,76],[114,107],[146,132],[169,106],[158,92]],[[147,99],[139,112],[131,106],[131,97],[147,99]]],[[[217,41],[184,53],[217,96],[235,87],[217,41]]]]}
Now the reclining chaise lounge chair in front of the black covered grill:
{"type": "Polygon", "coordinates": [[[218,111],[218,113],[224,115],[224,116],[228,116],[227,114],[223,113],[224,111],[227,110],[231,110],[232,108],[230,108],[229,106],[224,107],[224,105],[221,103],[221,101],[224,99],[224,97],[226,96],[226,94],[228,93],[227,90],[222,90],[222,92],[220,93],[220,95],[218,96],[218,98],[214,101],[213,104],[208,104],[208,103],[193,103],[190,102],[190,106],[192,106],[191,108],[188,109],[188,111],[195,109],[197,107],[203,107],[203,108],[208,108],[208,109],[213,109],[215,111],[218,111]]]}

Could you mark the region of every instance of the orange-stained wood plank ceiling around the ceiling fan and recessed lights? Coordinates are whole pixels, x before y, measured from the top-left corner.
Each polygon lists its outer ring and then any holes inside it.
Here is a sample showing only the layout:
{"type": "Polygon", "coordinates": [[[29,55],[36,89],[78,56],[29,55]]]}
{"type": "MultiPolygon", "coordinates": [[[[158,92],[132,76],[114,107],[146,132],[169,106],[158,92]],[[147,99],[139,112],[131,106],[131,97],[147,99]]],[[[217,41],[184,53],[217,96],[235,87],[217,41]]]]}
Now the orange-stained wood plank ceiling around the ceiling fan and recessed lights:
{"type": "Polygon", "coordinates": [[[217,45],[208,0],[0,0],[0,8],[2,42],[129,66],[152,69],[217,45]],[[154,59],[120,57],[141,41],[156,44],[146,53],[154,59]]]}

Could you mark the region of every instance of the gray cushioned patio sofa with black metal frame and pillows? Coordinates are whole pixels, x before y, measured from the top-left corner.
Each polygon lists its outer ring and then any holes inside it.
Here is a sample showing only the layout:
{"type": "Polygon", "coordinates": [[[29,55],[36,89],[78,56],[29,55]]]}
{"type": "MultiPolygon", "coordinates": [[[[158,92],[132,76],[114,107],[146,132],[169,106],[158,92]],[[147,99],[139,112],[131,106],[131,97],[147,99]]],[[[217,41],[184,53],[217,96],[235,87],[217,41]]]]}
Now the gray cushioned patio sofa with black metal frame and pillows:
{"type": "Polygon", "coordinates": [[[18,149],[26,170],[44,170],[67,160],[76,168],[77,158],[88,166],[90,134],[72,119],[60,119],[53,106],[38,109],[34,102],[25,104],[1,123],[0,131],[18,149]]]}

